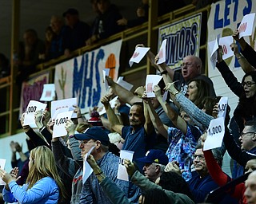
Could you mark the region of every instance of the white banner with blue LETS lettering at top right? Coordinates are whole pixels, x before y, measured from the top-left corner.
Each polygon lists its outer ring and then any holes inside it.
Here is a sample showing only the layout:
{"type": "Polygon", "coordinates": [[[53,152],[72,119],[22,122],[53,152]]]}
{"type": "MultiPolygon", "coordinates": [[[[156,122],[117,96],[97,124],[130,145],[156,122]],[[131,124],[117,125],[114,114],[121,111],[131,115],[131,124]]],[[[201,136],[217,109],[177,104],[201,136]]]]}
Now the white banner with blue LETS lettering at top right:
{"type": "MultiPolygon", "coordinates": [[[[246,14],[255,13],[256,1],[253,0],[239,0],[230,1],[222,0],[212,4],[210,10],[210,16],[207,22],[208,38],[207,41],[214,41],[214,39],[220,34],[220,37],[231,36],[234,29],[237,29],[242,18],[246,14]]],[[[253,34],[250,37],[244,37],[245,40],[256,49],[256,21],[254,21],[253,34]]],[[[209,77],[218,76],[218,70],[212,69],[210,65],[210,53],[207,49],[208,59],[208,75],[209,77]]],[[[232,69],[239,69],[240,65],[238,60],[233,56],[227,58],[226,64],[232,69]]]]}

